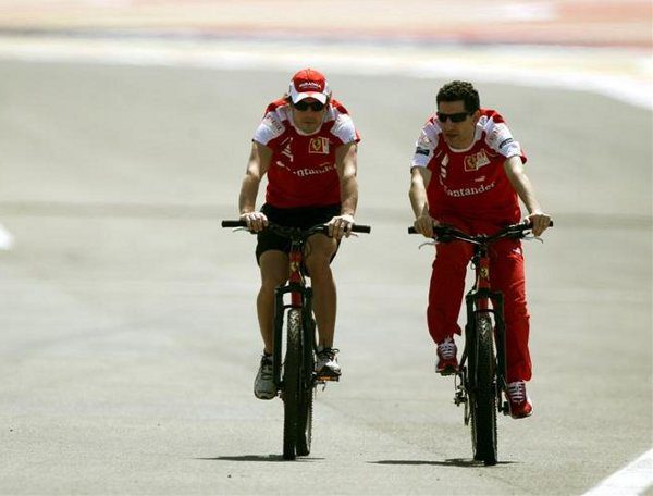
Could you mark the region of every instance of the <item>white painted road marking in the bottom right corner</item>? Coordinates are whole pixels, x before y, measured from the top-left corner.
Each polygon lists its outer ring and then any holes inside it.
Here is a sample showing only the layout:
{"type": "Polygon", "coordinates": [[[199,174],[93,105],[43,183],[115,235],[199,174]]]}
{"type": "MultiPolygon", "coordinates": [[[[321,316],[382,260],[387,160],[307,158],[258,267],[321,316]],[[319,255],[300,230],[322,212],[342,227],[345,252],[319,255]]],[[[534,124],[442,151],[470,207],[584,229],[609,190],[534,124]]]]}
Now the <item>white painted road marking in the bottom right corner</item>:
{"type": "Polygon", "coordinates": [[[637,496],[653,488],[653,449],[602,481],[583,496],[637,496]]]}

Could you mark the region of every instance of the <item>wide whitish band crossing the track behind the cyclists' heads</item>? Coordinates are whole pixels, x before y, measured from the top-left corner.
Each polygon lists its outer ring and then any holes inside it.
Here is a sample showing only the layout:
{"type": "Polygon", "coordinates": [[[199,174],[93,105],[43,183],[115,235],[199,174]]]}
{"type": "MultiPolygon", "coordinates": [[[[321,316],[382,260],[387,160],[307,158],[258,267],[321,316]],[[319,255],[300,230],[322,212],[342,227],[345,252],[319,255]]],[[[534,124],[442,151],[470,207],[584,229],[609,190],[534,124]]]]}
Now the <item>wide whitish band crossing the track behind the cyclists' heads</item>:
{"type": "Polygon", "coordinates": [[[319,41],[163,38],[0,37],[0,59],[123,65],[284,70],[316,66],[343,74],[468,78],[593,91],[653,109],[646,51],[565,47],[320,44],[319,41]]]}

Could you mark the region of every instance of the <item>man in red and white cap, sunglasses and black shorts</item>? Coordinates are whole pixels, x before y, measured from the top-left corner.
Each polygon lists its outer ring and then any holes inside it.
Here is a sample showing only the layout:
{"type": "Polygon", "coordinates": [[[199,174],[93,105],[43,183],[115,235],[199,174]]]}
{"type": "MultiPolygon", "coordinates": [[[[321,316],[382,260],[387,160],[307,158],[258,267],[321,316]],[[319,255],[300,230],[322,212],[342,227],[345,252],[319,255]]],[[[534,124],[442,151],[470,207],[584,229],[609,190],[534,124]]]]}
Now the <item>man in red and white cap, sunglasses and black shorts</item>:
{"type": "Polygon", "coordinates": [[[329,225],[331,237],[316,234],[308,239],[305,262],[319,334],[316,371],[341,374],[333,348],[336,294],[330,262],[354,224],[359,140],[347,110],[331,98],[324,75],[312,69],[293,76],[288,92],[268,106],[254,135],[239,209],[241,219],[258,233],[261,287],[257,311],[264,348],[254,384],[257,398],[276,396],[272,381],[274,288],[288,277],[289,241],[266,231],[268,220],[301,228],[329,225]],[[266,174],[266,203],[257,211],[256,197],[266,174]]]}

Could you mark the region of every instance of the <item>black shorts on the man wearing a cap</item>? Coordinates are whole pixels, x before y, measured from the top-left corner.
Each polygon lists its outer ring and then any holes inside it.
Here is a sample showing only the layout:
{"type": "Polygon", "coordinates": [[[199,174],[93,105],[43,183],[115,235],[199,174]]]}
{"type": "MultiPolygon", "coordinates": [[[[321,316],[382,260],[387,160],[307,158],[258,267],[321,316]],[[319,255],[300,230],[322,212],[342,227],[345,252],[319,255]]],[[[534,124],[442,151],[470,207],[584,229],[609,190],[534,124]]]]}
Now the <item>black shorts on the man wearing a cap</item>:
{"type": "MultiPolygon", "coordinates": [[[[261,212],[266,214],[270,222],[288,227],[299,227],[308,230],[317,224],[326,224],[331,219],[341,213],[340,204],[330,204],[325,207],[300,207],[296,209],[280,209],[271,204],[263,204],[261,212]]],[[[257,234],[256,261],[259,263],[261,253],[268,250],[279,250],[285,253],[291,252],[291,240],[279,236],[270,231],[262,231],[257,234]]],[[[340,246],[340,241],[338,241],[340,246]]],[[[337,250],[336,250],[337,251],[337,250]]],[[[333,253],[335,257],[335,253],[333,253]]],[[[332,259],[333,260],[333,259],[332,259]]]]}

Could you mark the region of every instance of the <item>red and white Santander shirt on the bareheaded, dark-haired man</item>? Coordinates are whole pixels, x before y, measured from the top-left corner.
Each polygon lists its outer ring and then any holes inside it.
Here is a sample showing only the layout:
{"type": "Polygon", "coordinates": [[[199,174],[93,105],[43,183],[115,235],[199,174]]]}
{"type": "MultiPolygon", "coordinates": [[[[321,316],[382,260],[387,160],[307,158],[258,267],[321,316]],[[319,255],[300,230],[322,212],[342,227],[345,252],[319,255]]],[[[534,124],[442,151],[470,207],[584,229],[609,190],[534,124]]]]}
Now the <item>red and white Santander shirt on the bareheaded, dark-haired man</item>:
{"type": "Polygon", "coordinates": [[[442,136],[435,115],[417,140],[412,165],[431,171],[427,189],[431,216],[455,216],[493,223],[516,223],[521,218],[519,200],[504,171],[510,157],[527,158],[503,117],[481,109],[472,145],[451,148],[442,136]]]}

